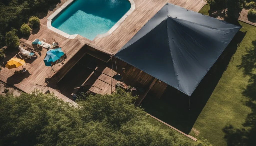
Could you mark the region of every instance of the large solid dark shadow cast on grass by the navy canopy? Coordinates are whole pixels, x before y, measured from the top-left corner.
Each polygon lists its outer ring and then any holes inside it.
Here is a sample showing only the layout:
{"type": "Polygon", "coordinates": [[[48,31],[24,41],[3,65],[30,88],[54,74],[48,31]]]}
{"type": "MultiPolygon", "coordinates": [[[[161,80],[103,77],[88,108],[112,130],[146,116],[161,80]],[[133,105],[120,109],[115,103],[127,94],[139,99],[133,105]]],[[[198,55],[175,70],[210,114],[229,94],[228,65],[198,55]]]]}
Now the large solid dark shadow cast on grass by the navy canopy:
{"type": "Polygon", "coordinates": [[[214,66],[202,79],[190,97],[190,110],[188,109],[188,96],[171,86],[166,88],[165,93],[160,99],[153,97],[149,93],[141,106],[148,114],[188,134],[218,84],[223,72],[227,69],[229,62],[232,61],[232,56],[245,35],[246,32],[239,31],[237,33],[217,59],[214,66]]]}

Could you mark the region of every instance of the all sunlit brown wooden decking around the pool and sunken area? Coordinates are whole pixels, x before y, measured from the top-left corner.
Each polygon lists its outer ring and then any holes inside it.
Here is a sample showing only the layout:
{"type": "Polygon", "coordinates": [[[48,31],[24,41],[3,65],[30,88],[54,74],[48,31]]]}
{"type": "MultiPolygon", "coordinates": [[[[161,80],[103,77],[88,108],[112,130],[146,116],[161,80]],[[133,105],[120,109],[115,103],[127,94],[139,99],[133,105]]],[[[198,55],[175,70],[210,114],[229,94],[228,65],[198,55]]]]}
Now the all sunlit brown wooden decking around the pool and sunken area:
{"type": "MultiPolygon", "coordinates": [[[[101,59],[103,56],[104,59],[102,60],[107,61],[105,58],[108,58],[108,56],[104,56],[104,54],[109,56],[115,54],[167,2],[196,12],[198,12],[206,4],[203,0],[134,0],[134,2],[135,10],[109,36],[97,38],[93,41],[81,37],[80,35],[78,35],[75,39],[65,38],[64,36],[61,36],[47,28],[47,17],[53,13],[50,12],[47,16],[41,19],[40,30],[35,32],[35,34],[30,35],[28,40],[33,41],[36,38],[42,40],[45,38],[46,42],[51,44],[53,42],[53,38],[59,43],[59,46],[62,48],[63,52],[67,54],[67,59],[65,59],[65,61],[53,66],[54,71],[57,74],[60,74],[59,78],[54,78],[54,80],[60,80],[73,67],[73,65],[79,61],[82,55],[77,57],[76,54],[80,50],[90,48],[90,52],[83,53],[91,53],[91,55],[99,51],[102,53],[102,55],[99,55],[98,58],[101,59]]],[[[54,72],[52,71],[51,67],[45,66],[43,62],[46,51],[46,49],[43,49],[39,54],[36,53],[38,56],[36,59],[26,59],[26,69],[28,72],[24,75],[14,74],[14,70],[20,70],[22,66],[17,69],[10,70],[4,68],[5,62],[16,56],[18,48],[12,53],[7,54],[7,57],[0,62],[1,66],[3,66],[2,71],[0,72],[0,80],[7,84],[14,85],[26,93],[31,93],[31,91],[35,88],[42,89],[44,92],[46,92],[46,90],[55,92],[56,90],[54,91],[50,87],[45,87],[49,84],[48,79],[54,76],[54,72]]],[[[107,68],[105,69],[107,73],[109,73],[109,70],[110,69],[107,68]]],[[[131,72],[134,71],[131,70],[131,72]]],[[[134,73],[132,75],[134,75],[134,73]]],[[[97,79],[96,82],[92,84],[97,84],[98,81],[109,84],[111,79],[102,75],[97,79]]],[[[103,89],[101,92],[95,91],[96,89],[91,90],[101,94],[111,92],[109,91],[109,85],[102,86],[102,88],[105,89],[103,89]]],[[[154,87],[152,90],[154,91],[154,87]]],[[[59,94],[58,96],[65,101],[73,102],[64,95],[62,96],[59,94]]]]}

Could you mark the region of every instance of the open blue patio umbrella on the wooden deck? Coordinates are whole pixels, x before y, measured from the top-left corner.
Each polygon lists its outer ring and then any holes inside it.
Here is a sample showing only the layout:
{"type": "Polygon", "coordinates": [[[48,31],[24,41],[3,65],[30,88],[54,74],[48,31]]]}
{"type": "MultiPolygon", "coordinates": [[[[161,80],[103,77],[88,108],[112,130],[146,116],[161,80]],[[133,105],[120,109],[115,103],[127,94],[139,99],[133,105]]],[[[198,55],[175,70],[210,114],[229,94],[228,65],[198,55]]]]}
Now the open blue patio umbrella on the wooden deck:
{"type": "Polygon", "coordinates": [[[46,66],[51,66],[51,62],[55,62],[56,60],[59,60],[60,57],[64,55],[64,52],[61,50],[61,48],[56,49],[50,49],[46,52],[44,62],[46,66]]]}

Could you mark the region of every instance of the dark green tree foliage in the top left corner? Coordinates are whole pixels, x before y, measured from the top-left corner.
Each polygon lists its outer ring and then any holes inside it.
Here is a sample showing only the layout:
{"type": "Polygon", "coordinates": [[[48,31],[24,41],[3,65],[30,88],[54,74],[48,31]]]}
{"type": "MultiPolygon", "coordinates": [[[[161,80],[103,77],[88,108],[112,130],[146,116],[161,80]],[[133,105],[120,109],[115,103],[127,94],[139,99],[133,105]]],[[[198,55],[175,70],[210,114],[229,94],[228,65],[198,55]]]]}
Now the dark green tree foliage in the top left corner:
{"type": "Polygon", "coordinates": [[[0,48],[5,44],[5,33],[19,29],[36,13],[47,13],[48,7],[60,0],[4,0],[0,1],[0,48]]]}

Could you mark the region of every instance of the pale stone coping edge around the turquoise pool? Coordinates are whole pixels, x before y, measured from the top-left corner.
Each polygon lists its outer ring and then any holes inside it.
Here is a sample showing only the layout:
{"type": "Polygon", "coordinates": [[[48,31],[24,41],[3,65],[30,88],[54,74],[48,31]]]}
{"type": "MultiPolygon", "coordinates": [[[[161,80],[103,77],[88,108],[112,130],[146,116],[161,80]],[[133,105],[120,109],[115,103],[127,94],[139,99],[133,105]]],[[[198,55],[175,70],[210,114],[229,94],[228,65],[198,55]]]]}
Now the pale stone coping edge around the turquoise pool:
{"type": "MultiPolygon", "coordinates": [[[[67,2],[65,2],[61,7],[59,7],[55,12],[53,12],[48,18],[47,18],[47,28],[66,37],[66,38],[69,38],[69,39],[74,39],[77,37],[78,34],[75,34],[75,35],[69,35],[68,33],[66,32],[63,32],[53,26],[51,26],[51,21],[52,19],[57,16],[64,8],[66,8],[69,4],[71,4],[74,0],[68,0],[67,2]]],[[[123,21],[124,19],[130,15],[133,10],[135,9],[135,2],[133,0],[127,0],[131,3],[131,8],[124,14],[124,16],[122,16],[106,33],[103,33],[103,34],[98,34],[94,39],[97,39],[97,38],[102,38],[102,37],[106,37],[108,35],[110,35],[123,21]]],[[[94,40],[93,39],[93,40],[94,40]]]]}

